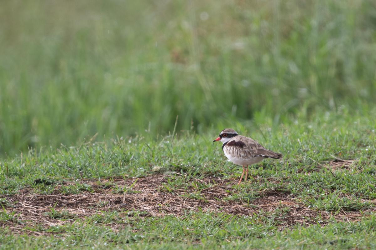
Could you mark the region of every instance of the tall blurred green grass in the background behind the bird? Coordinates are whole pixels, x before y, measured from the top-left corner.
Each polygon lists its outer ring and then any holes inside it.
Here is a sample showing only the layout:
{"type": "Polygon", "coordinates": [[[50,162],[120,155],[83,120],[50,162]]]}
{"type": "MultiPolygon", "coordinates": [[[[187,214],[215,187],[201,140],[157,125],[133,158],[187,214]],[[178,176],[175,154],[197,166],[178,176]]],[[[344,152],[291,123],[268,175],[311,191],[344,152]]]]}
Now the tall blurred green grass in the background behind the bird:
{"type": "Polygon", "coordinates": [[[1,154],[367,114],[376,2],[2,1],[0,55],[1,154]]]}

